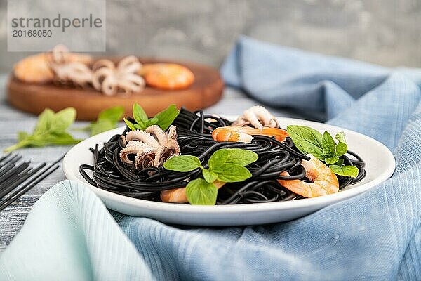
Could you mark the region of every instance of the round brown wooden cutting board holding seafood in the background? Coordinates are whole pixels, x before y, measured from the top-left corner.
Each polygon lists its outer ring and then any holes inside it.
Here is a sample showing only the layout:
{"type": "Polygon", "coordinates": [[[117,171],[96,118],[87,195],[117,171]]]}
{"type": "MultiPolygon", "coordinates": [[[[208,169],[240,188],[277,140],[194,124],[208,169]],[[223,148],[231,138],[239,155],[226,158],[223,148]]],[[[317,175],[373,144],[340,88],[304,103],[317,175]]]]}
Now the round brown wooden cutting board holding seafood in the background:
{"type": "MultiPolygon", "coordinates": [[[[118,60],[118,58],[109,58],[118,60]]],[[[8,101],[14,107],[38,115],[45,108],[58,111],[65,107],[77,110],[78,120],[95,120],[98,113],[107,107],[121,105],[126,109],[125,116],[132,115],[133,103],[139,103],[153,116],[175,103],[178,107],[199,110],[220,100],[224,83],[218,70],[197,63],[178,62],[156,58],[140,58],[142,63],[179,63],[194,73],[194,83],[180,91],[164,91],[146,87],[141,93],[131,96],[104,96],[94,89],[77,89],[55,84],[27,84],[13,75],[8,81],[8,101]]]]}

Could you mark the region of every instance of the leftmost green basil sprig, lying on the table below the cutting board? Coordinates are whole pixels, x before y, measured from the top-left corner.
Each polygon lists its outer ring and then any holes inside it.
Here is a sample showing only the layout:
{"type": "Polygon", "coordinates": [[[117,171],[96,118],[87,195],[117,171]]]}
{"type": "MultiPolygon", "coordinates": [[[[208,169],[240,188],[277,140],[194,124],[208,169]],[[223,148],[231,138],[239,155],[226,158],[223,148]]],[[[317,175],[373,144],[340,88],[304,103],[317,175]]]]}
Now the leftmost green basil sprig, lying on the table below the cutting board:
{"type": "Polygon", "coordinates": [[[6,148],[5,152],[11,152],[27,146],[42,147],[45,145],[71,145],[79,143],[78,139],[67,132],[67,128],[76,119],[76,110],[73,107],[65,108],[54,113],[53,110],[46,109],[42,112],[32,134],[18,132],[18,143],[6,148]]]}

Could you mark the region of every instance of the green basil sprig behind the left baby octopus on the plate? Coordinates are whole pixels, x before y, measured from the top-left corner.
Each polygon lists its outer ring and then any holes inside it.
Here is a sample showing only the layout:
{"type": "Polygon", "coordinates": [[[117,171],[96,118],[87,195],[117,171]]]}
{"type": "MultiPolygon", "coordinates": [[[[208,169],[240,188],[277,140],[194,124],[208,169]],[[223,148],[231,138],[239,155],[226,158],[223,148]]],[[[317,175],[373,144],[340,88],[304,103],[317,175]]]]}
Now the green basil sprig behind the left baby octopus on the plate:
{"type": "Polygon", "coordinates": [[[145,110],[143,110],[138,103],[135,103],[133,105],[133,119],[135,119],[135,123],[130,122],[126,118],[124,118],[124,122],[126,122],[127,126],[133,131],[137,129],[143,131],[152,125],[158,125],[165,131],[173,124],[173,121],[175,117],[178,116],[179,112],[180,111],[175,105],[170,105],[166,110],[159,112],[152,118],[148,118],[145,110]]]}

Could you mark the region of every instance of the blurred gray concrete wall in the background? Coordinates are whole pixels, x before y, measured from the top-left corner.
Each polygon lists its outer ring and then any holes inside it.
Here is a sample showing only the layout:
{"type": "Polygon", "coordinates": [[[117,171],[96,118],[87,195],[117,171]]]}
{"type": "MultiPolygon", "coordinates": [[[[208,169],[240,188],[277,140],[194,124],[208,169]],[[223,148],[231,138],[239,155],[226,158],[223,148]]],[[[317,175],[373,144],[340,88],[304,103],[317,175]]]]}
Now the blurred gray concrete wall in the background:
{"type": "MultiPolygon", "coordinates": [[[[107,53],[218,67],[239,34],[387,66],[421,66],[420,0],[108,0],[107,53]]],[[[8,53],[0,0],[0,72],[8,53]]]]}

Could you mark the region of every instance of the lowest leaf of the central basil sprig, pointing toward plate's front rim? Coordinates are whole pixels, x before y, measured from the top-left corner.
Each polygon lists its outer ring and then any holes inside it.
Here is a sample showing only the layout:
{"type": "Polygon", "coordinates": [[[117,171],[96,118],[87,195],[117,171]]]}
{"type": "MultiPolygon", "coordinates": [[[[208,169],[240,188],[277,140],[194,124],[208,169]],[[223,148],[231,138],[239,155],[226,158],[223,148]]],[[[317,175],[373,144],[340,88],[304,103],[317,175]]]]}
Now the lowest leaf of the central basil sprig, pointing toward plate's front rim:
{"type": "Polygon", "coordinates": [[[215,205],[218,188],[203,178],[196,178],[186,186],[187,200],[193,205],[215,205]]]}

